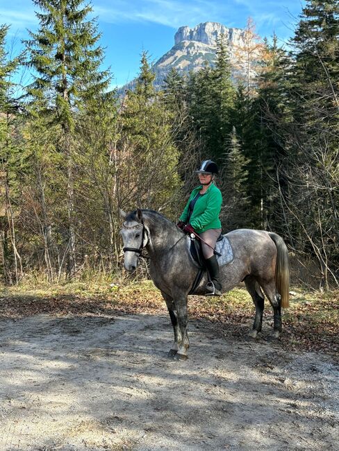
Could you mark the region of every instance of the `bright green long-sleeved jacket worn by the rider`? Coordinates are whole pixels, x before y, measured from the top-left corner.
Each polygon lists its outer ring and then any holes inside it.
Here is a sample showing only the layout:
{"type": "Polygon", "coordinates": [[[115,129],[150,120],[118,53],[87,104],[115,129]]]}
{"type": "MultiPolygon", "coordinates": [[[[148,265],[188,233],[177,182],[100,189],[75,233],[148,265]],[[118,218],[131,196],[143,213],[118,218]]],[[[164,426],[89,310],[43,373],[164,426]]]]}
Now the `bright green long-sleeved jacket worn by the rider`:
{"type": "MultiPolygon", "coordinates": [[[[181,214],[179,221],[187,223],[190,201],[199,193],[202,185],[193,189],[188,203],[186,204],[183,214],[181,214]]],[[[197,233],[205,232],[208,229],[219,229],[222,224],[219,219],[220,210],[222,207],[222,194],[220,189],[215,185],[210,185],[205,194],[200,196],[195,203],[192,215],[190,217],[190,225],[197,233]]]]}

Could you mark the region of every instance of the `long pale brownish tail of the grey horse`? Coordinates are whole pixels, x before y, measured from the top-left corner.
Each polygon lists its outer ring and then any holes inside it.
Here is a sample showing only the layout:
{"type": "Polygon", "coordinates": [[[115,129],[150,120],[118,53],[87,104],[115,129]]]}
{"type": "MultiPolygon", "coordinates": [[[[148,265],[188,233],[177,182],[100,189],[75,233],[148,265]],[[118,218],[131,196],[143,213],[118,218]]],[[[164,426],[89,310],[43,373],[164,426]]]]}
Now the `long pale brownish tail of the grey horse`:
{"type": "Polygon", "coordinates": [[[276,233],[269,232],[270,238],[276,245],[276,290],[281,296],[281,307],[290,306],[290,269],[288,264],[288,250],[285,241],[276,233]]]}

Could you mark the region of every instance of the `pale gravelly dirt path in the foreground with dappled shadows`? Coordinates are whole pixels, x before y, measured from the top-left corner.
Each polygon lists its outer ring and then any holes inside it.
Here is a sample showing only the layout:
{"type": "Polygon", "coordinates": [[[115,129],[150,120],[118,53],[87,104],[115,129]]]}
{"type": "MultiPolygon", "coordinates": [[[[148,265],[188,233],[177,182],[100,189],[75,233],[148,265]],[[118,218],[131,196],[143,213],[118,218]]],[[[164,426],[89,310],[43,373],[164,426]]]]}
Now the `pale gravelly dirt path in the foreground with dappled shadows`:
{"type": "Polygon", "coordinates": [[[0,321],[0,450],[338,450],[336,362],[167,316],[0,321]]]}

